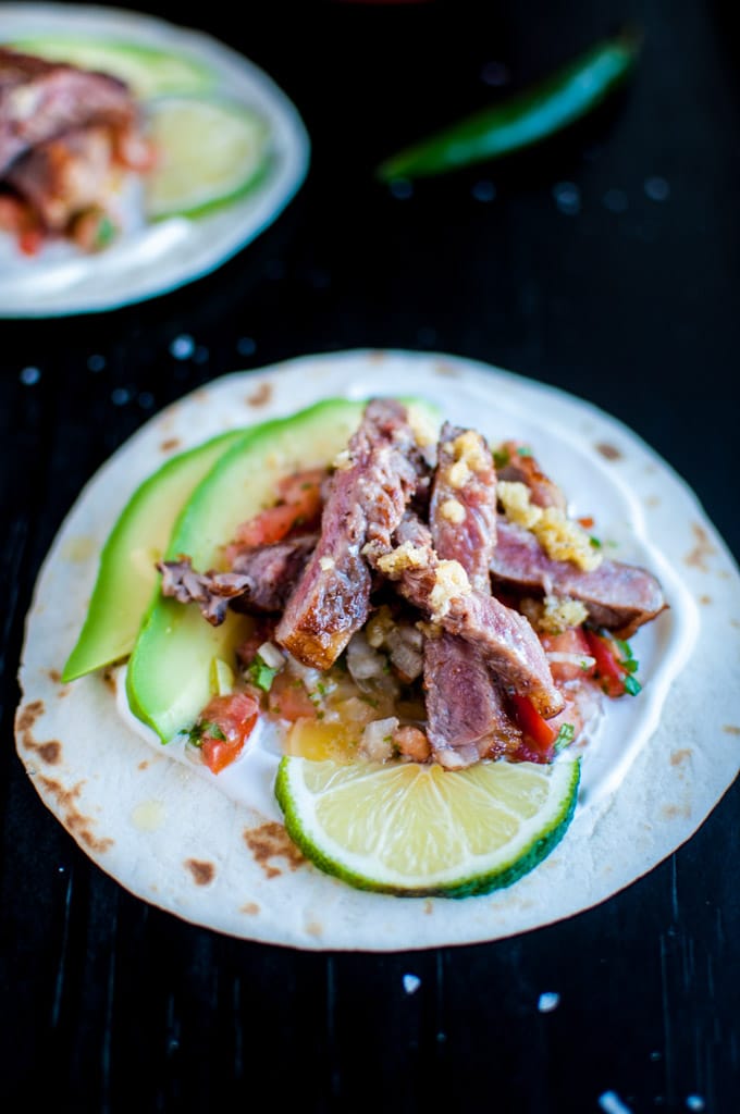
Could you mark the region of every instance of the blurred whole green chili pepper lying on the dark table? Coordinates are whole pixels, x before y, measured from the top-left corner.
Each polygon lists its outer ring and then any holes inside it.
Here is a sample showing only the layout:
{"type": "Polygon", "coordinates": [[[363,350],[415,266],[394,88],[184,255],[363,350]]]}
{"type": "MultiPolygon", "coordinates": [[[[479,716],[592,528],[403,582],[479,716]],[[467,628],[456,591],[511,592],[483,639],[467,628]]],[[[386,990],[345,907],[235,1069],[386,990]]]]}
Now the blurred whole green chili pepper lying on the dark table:
{"type": "Polygon", "coordinates": [[[623,85],[641,43],[634,28],[600,40],[537,85],[392,155],[376,177],[391,182],[446,174],[532,147],[593,111],[623,85]]]}

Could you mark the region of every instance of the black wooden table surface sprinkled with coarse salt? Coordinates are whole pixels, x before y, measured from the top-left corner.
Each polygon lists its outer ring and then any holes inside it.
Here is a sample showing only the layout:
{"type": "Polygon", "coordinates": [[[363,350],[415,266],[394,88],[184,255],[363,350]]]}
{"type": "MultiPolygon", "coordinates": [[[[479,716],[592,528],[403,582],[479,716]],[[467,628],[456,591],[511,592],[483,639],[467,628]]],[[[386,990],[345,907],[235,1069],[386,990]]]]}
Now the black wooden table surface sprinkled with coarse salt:
{"type": "Polygon", "coordinates": [[[642,434],[740,554],[730,8],[271,0],[242,19],[221,2],[157,6],[276,79],[309,128],[312,165],[286,212],[213,275],[110,313],[0,322],[9,1114],[36,1101],[252,1110],[259,1094],[311,1112],[740,1110],[737,784],[669,860],[569,920],[489,945],[305,954],[193,927],[124,891],[43,808],[12,733],[23,616],[81,485],[158,409],[238,368],[384,346],[557,384],[642,434]],[[373,183],[400,143],[624,17],[645,31],[636,78],[586,126],[409,197],[373,183]],[[187,359],[173,354],[182,335],[187,359]]]}

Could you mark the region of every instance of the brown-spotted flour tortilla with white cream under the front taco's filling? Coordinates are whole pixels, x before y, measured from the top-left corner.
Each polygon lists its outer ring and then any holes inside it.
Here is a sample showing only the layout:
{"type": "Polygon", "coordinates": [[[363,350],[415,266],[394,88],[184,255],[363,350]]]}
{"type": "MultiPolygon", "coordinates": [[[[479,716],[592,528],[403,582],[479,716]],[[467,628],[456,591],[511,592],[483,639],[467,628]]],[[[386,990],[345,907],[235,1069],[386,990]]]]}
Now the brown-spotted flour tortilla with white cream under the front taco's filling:
{"type": "Polygon", "coordinates": [[[392,951],[528,931],[601,902],[688,840],[737,776],[740,578],[683,481],[594,407],[512,372],[445,354],[353,351],[235,372],[144,426],[93,477],[41,569],[27,618],[17,747],[41,800],[82,850],[137,897],[196,925],[312,950],[392,951]],[[231,782],[145,740],[109,680],[62,685],[100,548],[142,480],[225,429],[320,398],[416,394],[491,441],[527,441],[610,551],[654,571],[670,607],[633,639],[644,688],[611,702],[583,751],[563,841],[490,896],[395,898],[305,862],[255,751],[231,782]],[[222,780],[218,780],[222,779],[222,780]]]}

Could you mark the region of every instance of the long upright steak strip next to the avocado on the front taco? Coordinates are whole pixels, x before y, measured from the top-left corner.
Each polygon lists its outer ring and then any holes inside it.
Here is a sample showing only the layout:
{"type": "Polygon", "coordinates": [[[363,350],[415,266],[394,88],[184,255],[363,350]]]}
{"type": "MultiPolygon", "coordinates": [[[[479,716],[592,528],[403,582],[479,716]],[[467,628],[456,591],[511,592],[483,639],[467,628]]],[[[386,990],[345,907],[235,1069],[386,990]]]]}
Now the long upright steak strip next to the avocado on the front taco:
{"type": "Polygon", "coordinates": [[[368,403],[334,472],[319,543],[275,632],[304,665],[328,670],[366,622],[372,578],[363,551],[390,546],[418,486],[419,461],[405,407],[390,399],[368,403]]]}

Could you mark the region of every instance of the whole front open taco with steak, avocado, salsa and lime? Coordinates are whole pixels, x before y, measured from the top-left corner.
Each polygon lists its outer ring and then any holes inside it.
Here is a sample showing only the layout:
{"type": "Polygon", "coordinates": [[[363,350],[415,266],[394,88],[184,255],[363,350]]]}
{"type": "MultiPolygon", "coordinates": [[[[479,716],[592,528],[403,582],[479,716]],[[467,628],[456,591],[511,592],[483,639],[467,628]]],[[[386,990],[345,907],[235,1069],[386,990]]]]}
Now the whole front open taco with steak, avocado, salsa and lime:
{"type": "Polygon", "coordinates": [[[644,873],[736,775],[727,700],[695,696],[707,671],[732,693],[708,577],[729,615],[693,497],[567,395],[411,353],[235,373],[72,508],[18,750],[105,870],[194,922],[306,948],[510,935],[644,873]]]}

